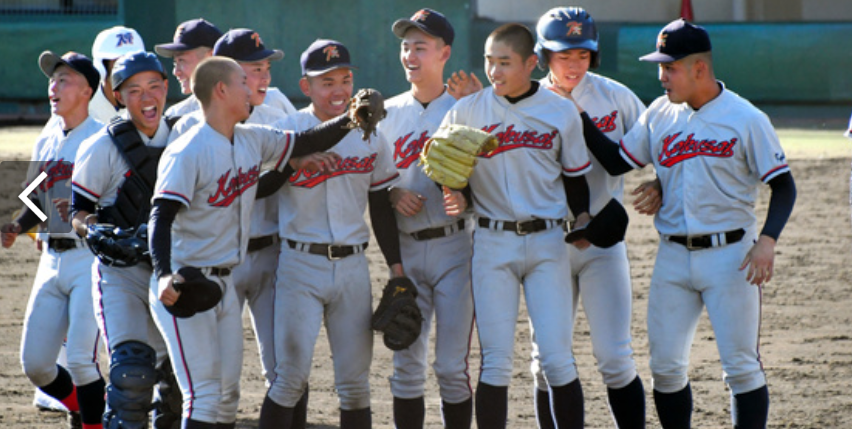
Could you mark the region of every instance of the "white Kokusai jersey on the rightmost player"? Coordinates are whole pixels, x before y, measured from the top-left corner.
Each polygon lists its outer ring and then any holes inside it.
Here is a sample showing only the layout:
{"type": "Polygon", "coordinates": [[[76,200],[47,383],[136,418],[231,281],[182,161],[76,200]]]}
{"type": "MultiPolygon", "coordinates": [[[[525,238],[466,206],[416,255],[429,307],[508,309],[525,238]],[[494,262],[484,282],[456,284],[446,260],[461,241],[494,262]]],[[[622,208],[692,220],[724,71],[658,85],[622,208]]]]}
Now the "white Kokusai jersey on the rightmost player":
{"type": "Polygon", "coordinates": [[[766,114],[724,86],[698,111],[655,100],[621,140],[621,155],[634,168],[654,165],[666,197],[654,220],[663,235],[752,227],[757,184],[790,171],[766,114]]]}

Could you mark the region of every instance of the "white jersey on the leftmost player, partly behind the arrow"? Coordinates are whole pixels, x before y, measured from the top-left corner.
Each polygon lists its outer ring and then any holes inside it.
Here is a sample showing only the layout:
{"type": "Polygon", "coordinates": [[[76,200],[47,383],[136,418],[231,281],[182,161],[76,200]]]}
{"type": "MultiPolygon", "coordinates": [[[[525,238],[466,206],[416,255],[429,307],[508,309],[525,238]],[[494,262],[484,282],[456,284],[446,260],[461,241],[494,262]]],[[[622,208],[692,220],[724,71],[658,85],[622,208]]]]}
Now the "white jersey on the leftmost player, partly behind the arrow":
{"type": "Polygon", "coordinates": [[[57,116],[39,135],[31,158],[36,162],[30,164],[27,183],[31,183],[42,172],[47,173],[47,178],[35,189],[42,212],[47,215],[47,222],[39,226],[39,231],[50,233],[54,238],[77,239],[79,237],[71,231],[68,222],[60,218],[53,200],[64,198],[70,201],[71,176],[77,150],[84,140],[103,128],[103,124],[89,116],[67,135],[63,131],[64,124],[62,118],[57,116]]]}

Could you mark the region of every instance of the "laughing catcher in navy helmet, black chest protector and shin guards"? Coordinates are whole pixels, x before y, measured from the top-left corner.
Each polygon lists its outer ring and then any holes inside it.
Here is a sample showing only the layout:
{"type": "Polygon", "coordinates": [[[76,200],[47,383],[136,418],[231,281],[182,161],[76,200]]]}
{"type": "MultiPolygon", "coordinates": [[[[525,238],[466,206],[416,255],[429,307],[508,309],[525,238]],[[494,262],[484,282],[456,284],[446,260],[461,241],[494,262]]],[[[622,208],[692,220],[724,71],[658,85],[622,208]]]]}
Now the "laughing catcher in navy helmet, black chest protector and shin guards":
{"type": "MultiPolygon", "coordinates": [[[[131,230],[146,223],[147,209],[135,196],[150,195],[152,189],[137,183],[153,181],[146,171],[156,165],[168,139],[169,126],[162,116],[168,81],[156,55],[137,51],[120,57],[111,79],[116,99],[127,106],[126,116],[83,144],[72,178],[72,224],[84,237],[92,223],[131,230]],[[133,154],[144,154],[142,159],[152,164],[144,168],[131,162],[136,159],[133,154]]],[[[168,369],[162,364],[167,356],[165,343],[148,305],[151,265],[142,261],[118,266],[98,259],[91,270],[94,313],[111,359],[104,421],[122,428],[145,427],[154,384],[164,377],[155,368],[168,369]],[[137,375],[143,380],[138,381],[137,375]]]]}

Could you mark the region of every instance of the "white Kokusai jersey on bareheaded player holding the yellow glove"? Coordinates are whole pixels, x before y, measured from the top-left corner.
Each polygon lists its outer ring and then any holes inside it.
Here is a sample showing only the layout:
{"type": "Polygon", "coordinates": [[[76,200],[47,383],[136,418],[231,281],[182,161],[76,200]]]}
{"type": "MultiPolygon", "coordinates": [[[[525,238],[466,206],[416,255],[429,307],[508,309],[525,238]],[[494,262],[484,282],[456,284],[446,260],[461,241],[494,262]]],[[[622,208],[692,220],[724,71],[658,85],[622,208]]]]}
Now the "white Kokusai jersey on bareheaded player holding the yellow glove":
{"type": "Polygon", "coordinates": [[[581,176],[592,168],[580,144],[583,123],[577,108],[544,88],[512,104],[489,87],[459,100],[444,123],[479,128],[500,142],[479,157],[470,177],[477,216],[562,219],[568,204],[561,175],[581,176]]]}

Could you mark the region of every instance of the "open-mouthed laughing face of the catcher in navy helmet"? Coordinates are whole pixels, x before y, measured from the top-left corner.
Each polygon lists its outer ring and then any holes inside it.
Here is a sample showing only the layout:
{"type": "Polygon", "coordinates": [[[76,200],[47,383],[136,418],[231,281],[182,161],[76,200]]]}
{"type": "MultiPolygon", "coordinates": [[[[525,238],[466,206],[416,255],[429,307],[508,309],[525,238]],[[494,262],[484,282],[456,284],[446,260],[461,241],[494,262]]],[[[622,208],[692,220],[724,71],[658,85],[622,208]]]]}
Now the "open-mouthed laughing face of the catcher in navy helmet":
{"type": "Polygon", "coordinates": [[[168,81],[155,71],[136,73],[115,91],[115,98],[127,107],[136,129],[153,137],[160,126],[166,105],[168,81]]]}

